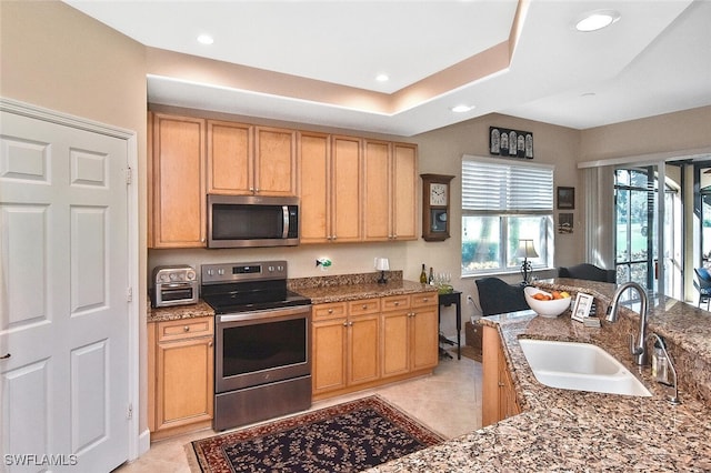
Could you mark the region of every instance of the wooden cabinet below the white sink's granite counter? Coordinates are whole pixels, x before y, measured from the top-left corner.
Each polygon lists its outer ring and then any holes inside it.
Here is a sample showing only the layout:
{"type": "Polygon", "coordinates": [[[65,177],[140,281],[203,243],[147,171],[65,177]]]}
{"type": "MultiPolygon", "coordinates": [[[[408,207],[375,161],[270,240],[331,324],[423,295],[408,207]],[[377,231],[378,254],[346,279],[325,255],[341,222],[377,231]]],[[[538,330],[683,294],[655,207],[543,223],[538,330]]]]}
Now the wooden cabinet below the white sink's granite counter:
{"type": "Polygon", "coordinates": [[[481,421],[487,426],[519,414],[521,409],[497,329],[483,326],[482,346],[481,421]]]}

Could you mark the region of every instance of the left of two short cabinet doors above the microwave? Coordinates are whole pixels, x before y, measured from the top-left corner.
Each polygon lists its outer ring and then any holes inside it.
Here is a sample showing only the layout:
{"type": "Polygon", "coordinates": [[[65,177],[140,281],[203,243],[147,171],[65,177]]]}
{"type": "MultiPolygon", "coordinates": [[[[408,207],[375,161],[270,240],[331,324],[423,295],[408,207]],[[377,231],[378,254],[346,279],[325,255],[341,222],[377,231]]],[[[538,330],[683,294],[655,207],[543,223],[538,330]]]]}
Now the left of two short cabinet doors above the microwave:
{"type": "Polygon", "coordinates": [[[254,188],[253,127],[208,120],[208,192],[249,195],[254,188]]]}

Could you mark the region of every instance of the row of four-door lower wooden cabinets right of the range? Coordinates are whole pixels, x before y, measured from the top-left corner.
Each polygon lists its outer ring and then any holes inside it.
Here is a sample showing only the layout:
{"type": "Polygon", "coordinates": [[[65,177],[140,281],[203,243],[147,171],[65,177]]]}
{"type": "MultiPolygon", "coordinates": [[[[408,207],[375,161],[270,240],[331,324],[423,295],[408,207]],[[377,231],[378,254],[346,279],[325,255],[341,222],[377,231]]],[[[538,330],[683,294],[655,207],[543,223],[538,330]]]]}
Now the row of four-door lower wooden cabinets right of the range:
{"type": "Polygon", "coordinates": [[[313,399],[431,372],[437,309],[431,292],[314,305],[313,399]]]}

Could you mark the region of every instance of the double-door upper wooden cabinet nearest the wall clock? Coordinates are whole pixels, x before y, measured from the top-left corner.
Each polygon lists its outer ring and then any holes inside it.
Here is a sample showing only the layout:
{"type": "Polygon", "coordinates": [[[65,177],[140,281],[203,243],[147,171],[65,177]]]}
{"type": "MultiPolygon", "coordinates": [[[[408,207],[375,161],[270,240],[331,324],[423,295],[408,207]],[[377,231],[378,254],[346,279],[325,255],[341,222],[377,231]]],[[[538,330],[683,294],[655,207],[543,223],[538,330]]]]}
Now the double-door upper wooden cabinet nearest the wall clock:
{"type": "Polygon", "coordinates": [[[415,240],[417,147],[365,140],[363,240],[415,240]]]}

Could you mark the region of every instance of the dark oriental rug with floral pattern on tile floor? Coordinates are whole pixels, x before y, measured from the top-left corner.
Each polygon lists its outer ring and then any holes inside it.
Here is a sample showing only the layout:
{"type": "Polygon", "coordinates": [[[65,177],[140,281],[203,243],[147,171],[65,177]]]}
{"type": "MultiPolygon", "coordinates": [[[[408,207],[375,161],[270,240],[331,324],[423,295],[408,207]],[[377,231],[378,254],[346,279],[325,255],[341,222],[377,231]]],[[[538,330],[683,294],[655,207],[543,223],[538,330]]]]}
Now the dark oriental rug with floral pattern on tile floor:
{"type": "Polygon", "coordinates": [[[444,437],[378,395],[191,443],[202,472],[358,472],[444,437]]]}

